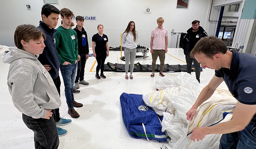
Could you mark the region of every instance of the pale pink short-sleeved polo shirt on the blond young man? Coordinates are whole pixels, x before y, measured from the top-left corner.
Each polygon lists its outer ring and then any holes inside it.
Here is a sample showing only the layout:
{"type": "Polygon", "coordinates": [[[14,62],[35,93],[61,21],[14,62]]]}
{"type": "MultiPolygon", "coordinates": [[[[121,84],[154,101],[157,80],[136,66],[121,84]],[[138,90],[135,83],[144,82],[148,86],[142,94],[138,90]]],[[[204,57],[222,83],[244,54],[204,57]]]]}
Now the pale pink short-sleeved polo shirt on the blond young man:
{"type": "Polygon", "coordinates": [[[153,50],[164,50],[165,49],[165,37],[168,36],[168,30],[166,28],[159,29],[158,27],[151,32],[153,39],[153,50]]]}

